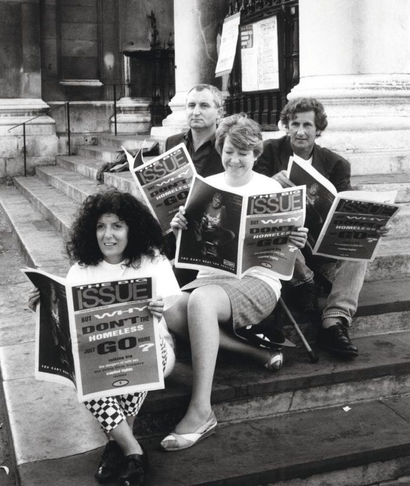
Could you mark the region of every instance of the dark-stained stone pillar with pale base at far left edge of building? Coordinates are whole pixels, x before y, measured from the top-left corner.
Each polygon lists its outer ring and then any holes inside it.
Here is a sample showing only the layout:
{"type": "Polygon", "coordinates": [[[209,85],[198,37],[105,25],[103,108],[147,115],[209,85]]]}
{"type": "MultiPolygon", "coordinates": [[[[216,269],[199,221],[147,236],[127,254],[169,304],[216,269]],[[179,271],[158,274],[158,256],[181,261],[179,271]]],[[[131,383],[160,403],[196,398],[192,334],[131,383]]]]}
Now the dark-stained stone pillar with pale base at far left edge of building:
{"type": "MultiPolygon", "coordinates": [[[[38,0],[0,0],[0,178],[23,173],[23,127],[13,127],[46,111],[41,99],[38,0]],[[16,34],[21,32],[21,35],[16,34]],[[10,131],[9,131],[10,130],[10,131]]],[[[28,173],[57,154],[55,122],[43,115],[26,124],[28,173]]]]}

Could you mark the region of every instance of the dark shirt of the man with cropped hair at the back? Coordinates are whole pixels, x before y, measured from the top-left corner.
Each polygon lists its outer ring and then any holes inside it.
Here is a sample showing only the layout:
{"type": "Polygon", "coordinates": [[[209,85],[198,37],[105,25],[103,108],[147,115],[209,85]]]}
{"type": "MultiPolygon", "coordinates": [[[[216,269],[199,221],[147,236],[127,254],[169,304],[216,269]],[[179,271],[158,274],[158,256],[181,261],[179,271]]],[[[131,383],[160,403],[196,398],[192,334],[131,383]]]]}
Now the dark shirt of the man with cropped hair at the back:
{"type": "Polygon", "coordinates": [[[178,145],[183,142],[187,147],[188,153],[195,165],[195,168],[199,175],[202,177],[208,177],[209,175],[219,174],[223,172],[222,162],[220,155],[215,148],[215,136],[210,140],[203,143],[196,152],[194,152],[194,143],[192,141],[191,129],[185,133],[178,133],[167,138],[165,142],[165,150],[178,145]]]}

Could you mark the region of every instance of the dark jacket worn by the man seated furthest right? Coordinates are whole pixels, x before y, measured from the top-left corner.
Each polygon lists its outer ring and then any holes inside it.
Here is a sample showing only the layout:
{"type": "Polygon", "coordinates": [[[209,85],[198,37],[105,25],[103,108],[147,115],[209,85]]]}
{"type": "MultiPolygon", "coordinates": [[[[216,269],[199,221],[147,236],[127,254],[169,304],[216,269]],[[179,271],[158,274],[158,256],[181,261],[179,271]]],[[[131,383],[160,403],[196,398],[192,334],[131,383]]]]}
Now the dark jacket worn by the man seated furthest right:
{"type": "MultiPolygon", "coordinates": [[[[289,157],[293,155],[290,138],[284,136],[264,142],[264,152],[256,161],[255,172],[272,177],[281,170],[286,170],[289,157]]],[[[338,192],[350,191],[350,162],[319,145],[313,147],[312,166],[334,185],[338,192]]]]}

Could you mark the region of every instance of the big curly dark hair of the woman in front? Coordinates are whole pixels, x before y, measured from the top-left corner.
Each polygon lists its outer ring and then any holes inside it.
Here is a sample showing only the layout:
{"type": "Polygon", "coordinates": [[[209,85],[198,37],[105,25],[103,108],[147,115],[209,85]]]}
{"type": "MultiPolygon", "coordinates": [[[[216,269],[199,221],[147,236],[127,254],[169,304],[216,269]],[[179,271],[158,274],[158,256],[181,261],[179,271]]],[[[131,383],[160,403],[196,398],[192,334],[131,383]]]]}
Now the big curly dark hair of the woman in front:
{"type": "Polygon", "coordinates": [[[128,243],[124,250],[125,265],[137,268],[143,255],[164,253],[161,227],[150,210],[129,193],[109,190],[88,196],[74,219],[66,251],[73,261],[97,265],[103,254],[97,241],[97,221],[102,214],[116,214],[128,226],[128,243]]]}

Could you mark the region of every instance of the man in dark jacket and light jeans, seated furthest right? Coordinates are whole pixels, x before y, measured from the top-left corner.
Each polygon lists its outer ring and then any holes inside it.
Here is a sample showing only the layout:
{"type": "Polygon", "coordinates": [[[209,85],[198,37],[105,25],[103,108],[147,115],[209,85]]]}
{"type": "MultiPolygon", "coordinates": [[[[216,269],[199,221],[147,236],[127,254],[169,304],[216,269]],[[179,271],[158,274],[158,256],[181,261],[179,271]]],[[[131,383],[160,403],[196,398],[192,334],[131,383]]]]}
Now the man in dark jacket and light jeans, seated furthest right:
{"type": "MultiPolygon", "coordinates": [[[[304,164],[311,164],[336,187],[337,191],[351,190],[350,163],[327,148],[315,143],[327,126],[327,117],[322,103],[314,98],[296,98],[283,108],[280,120],[288,134],[282,138],[264,142],[264,152],[254,167],[256,172],[273,177],[283,188],[294,185],[286,177],[289,157],[304,164]]],[[[389,228],[378,230],[386,236],[389,228]]],[[[333,353],[357,356],[357,347],[350,341],[348,327],[357,309],[358,296],[363,285],[366,262],[332,260],[308,255],[309,266],[325,273],[332,281],[332,289],[322,312],[322,327],[317,336],[317,345],[333,353]]],[[[303,285],[305,295],[316,298],[313,273],[303,260],[296,260],[293,273],[295,288],[303,285]],[[306,292],[306,288],[310,289],[306,292]]],[[[301,287],[302,289],[302,287],[301,287]]],[[[308,306],[308,310],[309,306],[308,306]]]]}

